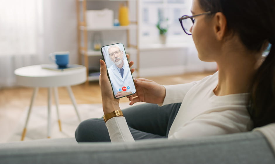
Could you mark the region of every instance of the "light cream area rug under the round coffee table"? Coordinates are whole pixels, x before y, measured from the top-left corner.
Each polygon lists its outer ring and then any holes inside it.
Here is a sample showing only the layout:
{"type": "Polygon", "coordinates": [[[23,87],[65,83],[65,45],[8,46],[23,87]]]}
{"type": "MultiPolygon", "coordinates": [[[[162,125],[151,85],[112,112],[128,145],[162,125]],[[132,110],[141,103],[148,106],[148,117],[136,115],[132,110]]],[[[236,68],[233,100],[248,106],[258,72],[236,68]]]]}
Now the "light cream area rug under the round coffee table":
{"type": "MultiPolygon", "coordinates": [[[[134,105],[141,104],[135,103],[134,105]]],[[[133,105],[133,106],[134,106],[133,105]]],[[[125,109],[130,107],[129,103],[120,103],[120,108],[125,109]]],[[[78,112],[82,121],[90,118],[101,118],[103,116],[102,104],[78,104],[78,112]]],[[[27,110],[18,120],[18,125],[8,142],[20,141],[25,120],[27,118],[27,110]]],[[[57,121],[56,106],[51,106],[51,138],[67,138],[74,137],[75,129],[79,125],[73,105],[59,105],[59,117],[61,120],[62,131],[59,131],[57,121]]],[[[47,123],[48,123],[48,108],[47,106],[33,106],[27,125],[27,132],[24,140],[36,140],[47,138],[47,123]]]]}

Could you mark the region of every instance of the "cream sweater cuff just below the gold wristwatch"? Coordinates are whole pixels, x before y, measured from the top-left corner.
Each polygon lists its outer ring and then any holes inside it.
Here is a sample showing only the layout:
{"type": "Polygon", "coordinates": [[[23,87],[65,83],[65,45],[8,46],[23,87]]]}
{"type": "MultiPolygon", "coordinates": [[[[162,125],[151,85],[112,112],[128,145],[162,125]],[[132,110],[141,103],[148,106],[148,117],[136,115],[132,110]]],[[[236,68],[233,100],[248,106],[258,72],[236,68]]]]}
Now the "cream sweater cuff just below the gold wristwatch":
{"type": "Polygon", "coordinates": [[[106,122],[111,142],[134,142],[125,117],[113,117],[106,122]]]}

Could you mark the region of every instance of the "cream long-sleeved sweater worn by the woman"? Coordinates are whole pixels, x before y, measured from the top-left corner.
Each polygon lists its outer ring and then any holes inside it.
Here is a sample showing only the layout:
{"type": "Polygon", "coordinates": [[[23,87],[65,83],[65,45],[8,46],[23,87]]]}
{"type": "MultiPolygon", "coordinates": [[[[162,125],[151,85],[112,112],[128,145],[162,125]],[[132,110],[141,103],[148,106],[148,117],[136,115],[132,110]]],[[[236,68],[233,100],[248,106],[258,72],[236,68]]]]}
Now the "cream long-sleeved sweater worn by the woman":
{"type": "MultiPolygon", "coordinates": [[[[168,139],[221,135],[250,131],[252,121],[246,109],[248,94],[216,96],[218,72],[198,82],[164,86],[162,105],[180,103],[168,139]]],[[[106,126],[112,142],[134,141],[124,117],[114,117],[106,126]]]]}

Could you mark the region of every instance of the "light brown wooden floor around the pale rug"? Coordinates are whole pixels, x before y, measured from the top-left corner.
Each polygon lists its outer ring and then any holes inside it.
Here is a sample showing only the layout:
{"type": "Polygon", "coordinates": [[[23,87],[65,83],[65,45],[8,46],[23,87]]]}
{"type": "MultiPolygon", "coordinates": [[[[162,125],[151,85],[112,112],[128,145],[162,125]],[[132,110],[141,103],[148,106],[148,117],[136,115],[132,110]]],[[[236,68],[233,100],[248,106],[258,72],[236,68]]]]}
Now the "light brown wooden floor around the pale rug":
{"type": "MultiPolygon", "coordinates": [[[[163,85],[182,84],[201,80],[214,72],[190,73],[178,76],[147,77],[163,85]]],[[[78,104],[101,103],[101,93],[98,82],[90,82],[89,85],[81,84],[72,86],[72,90],[78,104]]],[[[0,89],[0,142],[6,142],[11,132],[17,126],[17,120],[30,105],[32,88],[13,87],[0,89]]],[[[71,104],[70,97],[65,87],[59,87],[59,103],[71,104]]],[[[52,100],[54,102],[54,100],[52,100]]],[[[128,102],[127,98],[121,98],[120,102],[128,102]]],[[[38,91],[34,105],[47,105],[47,89],[38,91]]]]}

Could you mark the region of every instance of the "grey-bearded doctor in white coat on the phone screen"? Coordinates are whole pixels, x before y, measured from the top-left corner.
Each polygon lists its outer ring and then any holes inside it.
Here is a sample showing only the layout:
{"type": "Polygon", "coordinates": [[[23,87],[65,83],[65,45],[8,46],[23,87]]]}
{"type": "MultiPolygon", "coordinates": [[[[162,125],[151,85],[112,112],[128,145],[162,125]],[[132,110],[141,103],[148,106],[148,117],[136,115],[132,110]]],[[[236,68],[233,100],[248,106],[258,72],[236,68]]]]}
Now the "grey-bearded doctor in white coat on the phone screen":
{"type": "Polygon", "coordinates": [[[113,61],[113,65],[108,68],[111,85],[116,98],[135,93],[133,77],[130,72],[128,61],[118,45],[110,45],[107,49],[109,58],[113,61]]]}

